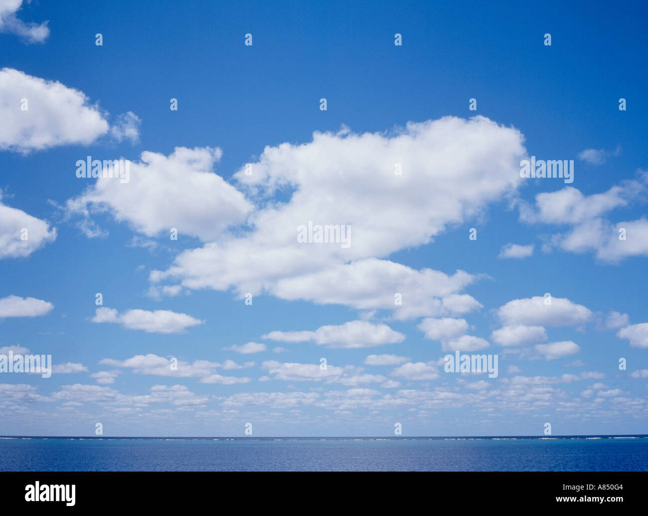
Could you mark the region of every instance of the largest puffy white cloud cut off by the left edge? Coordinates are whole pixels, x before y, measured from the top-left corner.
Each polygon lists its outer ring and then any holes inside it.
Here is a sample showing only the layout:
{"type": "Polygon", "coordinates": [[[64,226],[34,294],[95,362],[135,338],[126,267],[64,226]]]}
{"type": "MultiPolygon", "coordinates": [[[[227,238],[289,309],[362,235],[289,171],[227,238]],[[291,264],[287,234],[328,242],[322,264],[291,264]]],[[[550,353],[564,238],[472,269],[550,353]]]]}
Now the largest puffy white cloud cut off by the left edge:
{"type": "Polygon", "coordinates": [[[54,145],[87,145],[109,130],[86,95],[60,82],[0,70],[0,150],[28,152],[54,145]],[[27,99],[27,110],[21,109],[27,99]]]}

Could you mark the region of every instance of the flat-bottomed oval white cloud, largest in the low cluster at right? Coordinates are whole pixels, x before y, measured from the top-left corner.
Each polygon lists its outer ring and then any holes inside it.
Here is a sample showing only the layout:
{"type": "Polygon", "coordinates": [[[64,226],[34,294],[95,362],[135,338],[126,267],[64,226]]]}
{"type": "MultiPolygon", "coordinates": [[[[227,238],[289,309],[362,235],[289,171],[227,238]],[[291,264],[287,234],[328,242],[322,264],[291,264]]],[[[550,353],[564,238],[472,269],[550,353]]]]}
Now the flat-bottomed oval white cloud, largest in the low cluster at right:
{"type": "Polygon", "coordinates": [[[582,304],[566,298],[535,296],[514,299],[500,306],[498,316],[507,326],[578,326],[592,317],[592,312],[582,304]]]}

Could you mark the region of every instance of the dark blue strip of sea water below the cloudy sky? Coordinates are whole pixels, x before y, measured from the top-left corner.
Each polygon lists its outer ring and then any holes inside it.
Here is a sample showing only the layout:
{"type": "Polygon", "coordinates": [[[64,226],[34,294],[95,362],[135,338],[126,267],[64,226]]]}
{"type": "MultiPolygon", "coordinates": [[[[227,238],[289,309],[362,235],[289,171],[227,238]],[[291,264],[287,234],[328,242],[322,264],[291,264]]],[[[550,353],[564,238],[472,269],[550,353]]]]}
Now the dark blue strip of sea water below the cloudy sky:
{"type": "Polygon", "coordinates": [[[648,436],[0,437],[0,471],[648,471],[648,436]]]}

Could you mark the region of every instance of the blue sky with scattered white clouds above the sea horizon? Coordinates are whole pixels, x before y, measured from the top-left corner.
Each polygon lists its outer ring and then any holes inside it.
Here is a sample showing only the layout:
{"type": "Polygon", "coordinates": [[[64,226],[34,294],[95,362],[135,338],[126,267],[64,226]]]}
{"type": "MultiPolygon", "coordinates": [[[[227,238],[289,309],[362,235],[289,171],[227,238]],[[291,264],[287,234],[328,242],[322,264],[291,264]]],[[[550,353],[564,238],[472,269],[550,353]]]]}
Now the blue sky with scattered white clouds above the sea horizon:
{"type": "Polygon", "coordinates": [[[0,434],[645,433],[646,7],[615,13],[0,1],[0,354],[54,363],[0,373],[0,434]]]}

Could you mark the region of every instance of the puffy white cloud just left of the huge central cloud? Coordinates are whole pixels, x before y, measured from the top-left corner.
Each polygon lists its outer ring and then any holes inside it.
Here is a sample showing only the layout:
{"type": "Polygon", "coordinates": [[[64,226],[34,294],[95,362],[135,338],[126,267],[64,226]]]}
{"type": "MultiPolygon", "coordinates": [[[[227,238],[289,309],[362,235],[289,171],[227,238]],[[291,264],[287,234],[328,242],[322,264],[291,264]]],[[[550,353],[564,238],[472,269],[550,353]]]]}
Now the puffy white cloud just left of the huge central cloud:
{"type": "Polygon", "coordinates": [[[179,240],[185,235],[215,240],[244,222],[252,208],[240,191],[212,172],[221,155],[210,148],[176,147],[170,156],[144,152],[141,161],[130,162],[128,182],[97,178],[65,208],[68,214],[83,214],[92,228],[91,214],[108,212],[146,236],[165,232],[169,238],[176,228],[179,240]]]}

